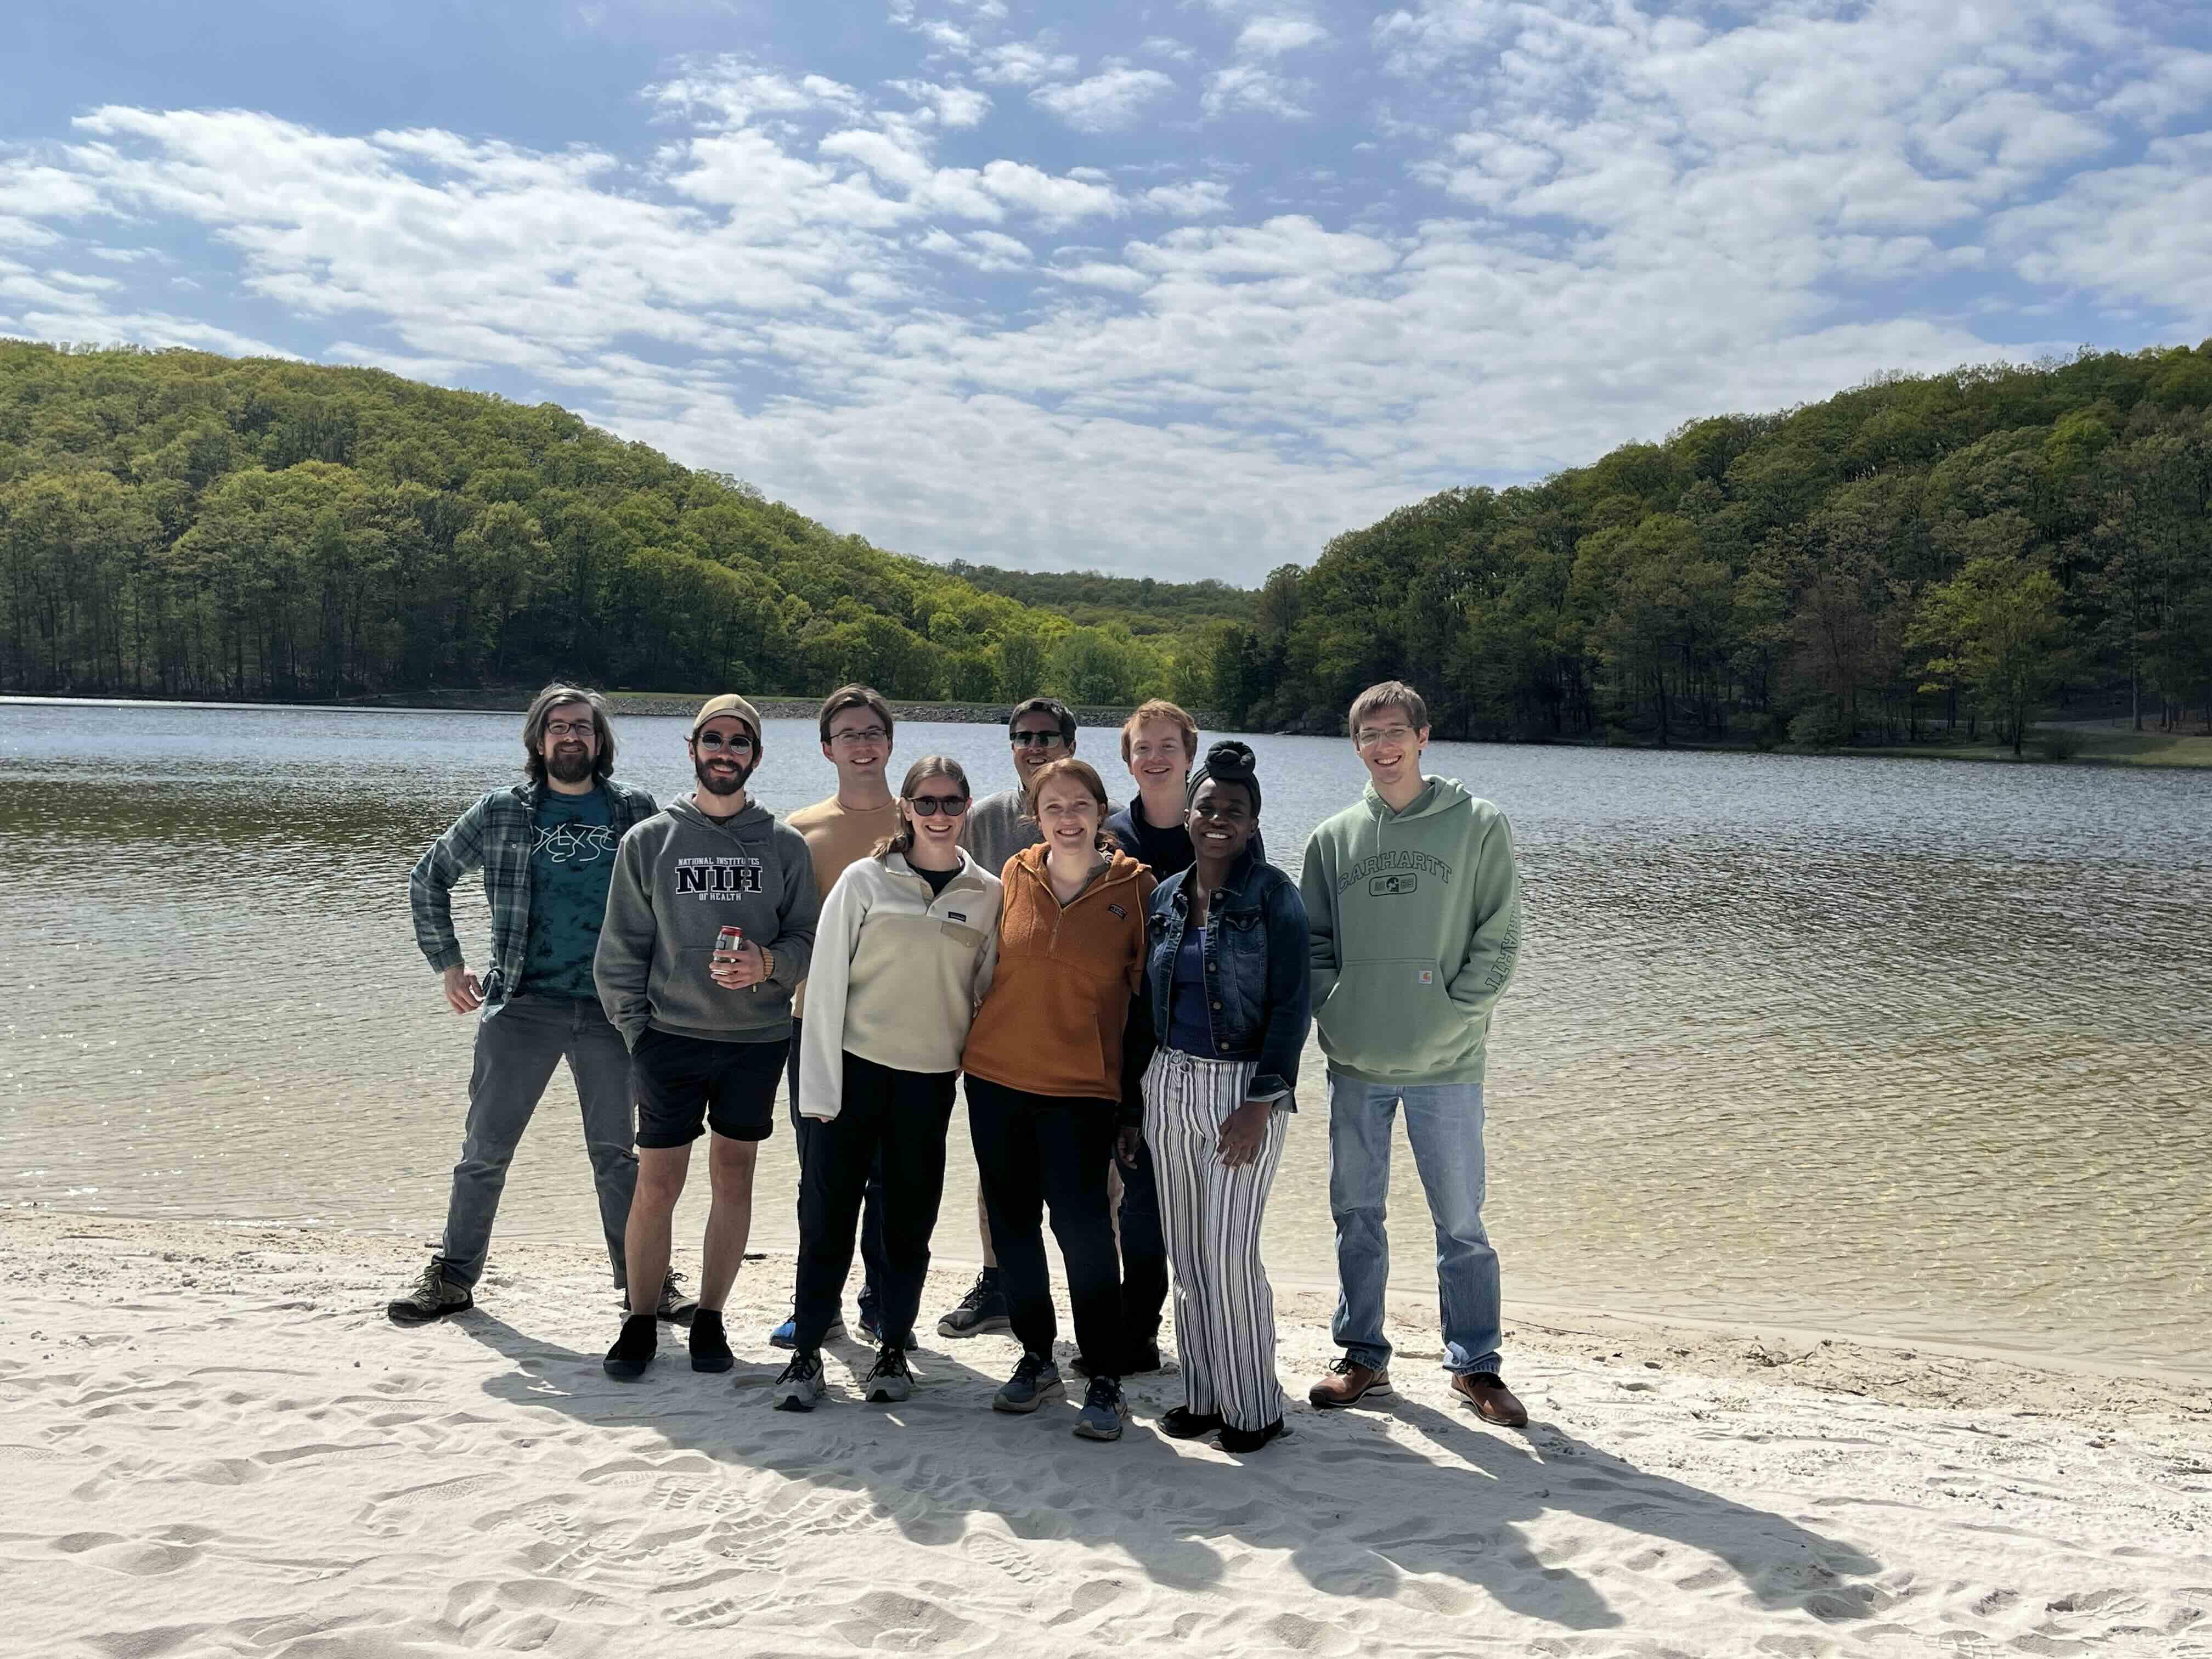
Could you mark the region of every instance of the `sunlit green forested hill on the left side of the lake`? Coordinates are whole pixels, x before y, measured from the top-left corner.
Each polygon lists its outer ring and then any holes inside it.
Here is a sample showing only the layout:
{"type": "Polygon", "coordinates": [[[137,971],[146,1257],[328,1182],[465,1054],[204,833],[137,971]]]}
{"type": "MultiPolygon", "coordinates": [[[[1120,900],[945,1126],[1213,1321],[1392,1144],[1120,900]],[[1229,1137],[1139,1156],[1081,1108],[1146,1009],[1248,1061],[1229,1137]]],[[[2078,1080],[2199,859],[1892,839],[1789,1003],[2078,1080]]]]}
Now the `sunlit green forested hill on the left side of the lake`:
{"type": "Polygon", "coordinates": [[[0,341],[0,688],[531,684],[1208,706],[1075,626],[553,405],[376,369],[0,341]]]}

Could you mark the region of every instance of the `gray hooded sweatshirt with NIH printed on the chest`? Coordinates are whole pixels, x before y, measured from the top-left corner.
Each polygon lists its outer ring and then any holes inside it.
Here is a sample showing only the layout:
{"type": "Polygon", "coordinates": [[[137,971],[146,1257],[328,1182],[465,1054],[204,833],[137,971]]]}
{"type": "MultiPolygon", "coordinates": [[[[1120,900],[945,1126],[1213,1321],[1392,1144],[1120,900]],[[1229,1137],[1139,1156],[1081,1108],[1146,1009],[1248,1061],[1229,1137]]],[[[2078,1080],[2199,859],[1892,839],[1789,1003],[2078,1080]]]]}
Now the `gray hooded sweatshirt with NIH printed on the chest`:
{"type": "Polygon", "coordinates": [[[814,854],[796,830],[757,805],[710,818],[690,796],[675,801],[615,852],[591,962],[599,1006],[633,1048],[646,1026],[712,1042],[787,1037],[816,916],[814,854]],[[776,958],[774,975],[750,991],[708,978],[714,936],[732,925],[776,958]]]}

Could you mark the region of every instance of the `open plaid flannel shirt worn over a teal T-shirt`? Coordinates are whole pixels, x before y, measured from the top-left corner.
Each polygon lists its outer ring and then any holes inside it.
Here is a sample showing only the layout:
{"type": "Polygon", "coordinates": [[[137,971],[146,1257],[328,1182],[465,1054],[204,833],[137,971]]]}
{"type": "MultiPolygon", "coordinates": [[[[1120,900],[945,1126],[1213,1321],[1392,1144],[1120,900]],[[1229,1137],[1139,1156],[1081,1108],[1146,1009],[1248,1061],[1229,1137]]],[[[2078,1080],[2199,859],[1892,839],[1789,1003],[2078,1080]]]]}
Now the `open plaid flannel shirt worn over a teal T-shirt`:
{"type": "MultiPolygon", "coordinates": [[[[644,790],[604,779],[606,818],[615,841],[659,807],[644,790]]],[[[522,962],[531,947],[531,838],[538,830],[538,785],[515,783],[491,790],[460,814],[453,827],[429,843],[407,874],[407,905],[414,911],[416,945],[434,973],[460,967],[453,933],[453,885],[471,869],[484,872],[491,902],[491,969],[484,973],[484,1015],[522,987],[522,962]]]]}

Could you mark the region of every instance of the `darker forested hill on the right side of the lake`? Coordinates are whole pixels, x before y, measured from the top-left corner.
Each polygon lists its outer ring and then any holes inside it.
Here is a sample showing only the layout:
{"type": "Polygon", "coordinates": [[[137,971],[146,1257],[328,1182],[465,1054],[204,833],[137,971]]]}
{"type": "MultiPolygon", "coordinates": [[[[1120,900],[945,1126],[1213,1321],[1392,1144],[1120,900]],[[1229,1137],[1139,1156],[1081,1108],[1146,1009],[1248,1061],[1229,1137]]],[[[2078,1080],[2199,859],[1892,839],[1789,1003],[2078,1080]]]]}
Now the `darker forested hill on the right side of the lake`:
{"type": "MultiPolygon", "coordinates": [[[[1343,730],[1405,675],[1469,737],[1896,741],[2051,697],[2212,721],[2212,343],[1694,420],[1279,568],[1214,706],[1343,730]]],[[[1984,728],[1986,730],[1986,728],[1984,728]]]]}

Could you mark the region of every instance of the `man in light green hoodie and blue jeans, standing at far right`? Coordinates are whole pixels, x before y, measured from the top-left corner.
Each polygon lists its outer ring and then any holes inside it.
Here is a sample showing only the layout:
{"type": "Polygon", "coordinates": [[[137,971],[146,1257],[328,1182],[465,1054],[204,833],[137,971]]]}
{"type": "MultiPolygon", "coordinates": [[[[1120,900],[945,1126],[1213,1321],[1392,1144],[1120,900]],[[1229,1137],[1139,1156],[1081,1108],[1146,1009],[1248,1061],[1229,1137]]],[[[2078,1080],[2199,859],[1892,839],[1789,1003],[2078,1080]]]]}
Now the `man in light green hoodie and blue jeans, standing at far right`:
{"type": "Polygon", "coordinates": [[[1391,1391],[1383,1214],[1391,1124],[1405,1106],[1436,1221],[1451,1391],[1486,1422],[1517,1429],[1528,1413],[1498,1369],[1498,1252],[1482,1230],[1482,1060],[1520,956],[1513,830],[1453,779],[1422,774],[1429,706],[1411,686],[1369,686],[1349,726],[1367,790],[1314,832],[1298,880],[1314,1026],[1329,1062],[1332,1336],[1345,1349],[1307,1398],[1345,1407],[1391,1391]]]}

